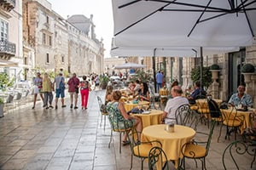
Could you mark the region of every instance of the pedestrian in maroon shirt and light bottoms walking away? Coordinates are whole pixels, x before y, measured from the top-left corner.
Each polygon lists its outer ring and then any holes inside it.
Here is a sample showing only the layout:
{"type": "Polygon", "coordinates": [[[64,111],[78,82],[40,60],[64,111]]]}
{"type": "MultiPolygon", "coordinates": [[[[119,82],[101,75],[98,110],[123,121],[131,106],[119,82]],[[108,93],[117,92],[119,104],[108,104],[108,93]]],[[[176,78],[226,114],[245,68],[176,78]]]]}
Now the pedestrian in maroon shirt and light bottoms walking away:
{"type": "Polygon", "coordinates": [[[68,92],[70,95],[70,109],[73,109],[73,100],[74,100],[74,109],[78,109],[78,98],[79,98],[79,78],[76,73],[73,73],[73,77],[71,77],[67,81],[68,92]]]}

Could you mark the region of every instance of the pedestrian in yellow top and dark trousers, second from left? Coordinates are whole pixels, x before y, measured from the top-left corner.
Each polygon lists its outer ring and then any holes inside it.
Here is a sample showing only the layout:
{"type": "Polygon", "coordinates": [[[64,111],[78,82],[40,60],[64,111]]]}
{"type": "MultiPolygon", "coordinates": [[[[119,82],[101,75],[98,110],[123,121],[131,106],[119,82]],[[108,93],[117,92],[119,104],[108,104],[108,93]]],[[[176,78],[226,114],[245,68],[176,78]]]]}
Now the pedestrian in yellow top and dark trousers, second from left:
{"type": "Polygon", "coordinates": [[[46,72],[44,73],[42,91],[44,93],[44,106],[43,107],[45,107],[45,109],[53,108],[53,106],[52,106],[53,84],[50,81],[49,76],[48,76],[48,74],[46,72]],[[49,107],[48,107],[48,102],[49,102],[49,107]]]}

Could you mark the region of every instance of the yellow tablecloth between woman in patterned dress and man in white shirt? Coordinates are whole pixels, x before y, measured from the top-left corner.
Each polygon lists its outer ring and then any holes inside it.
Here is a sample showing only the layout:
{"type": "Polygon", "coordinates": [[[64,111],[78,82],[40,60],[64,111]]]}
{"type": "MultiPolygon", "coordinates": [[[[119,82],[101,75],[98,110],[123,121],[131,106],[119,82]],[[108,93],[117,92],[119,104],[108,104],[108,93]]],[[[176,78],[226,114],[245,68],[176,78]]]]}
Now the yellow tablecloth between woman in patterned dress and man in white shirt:
{"type": "Polygon", "coordinates": [[[160,124],[162,120],[164,111],[159,110],[151,110],[150,114],[133,114],[133,116],[138,116],[142,119],[143,128],[148,127],[150,125],[157,125],[160,124]]]}

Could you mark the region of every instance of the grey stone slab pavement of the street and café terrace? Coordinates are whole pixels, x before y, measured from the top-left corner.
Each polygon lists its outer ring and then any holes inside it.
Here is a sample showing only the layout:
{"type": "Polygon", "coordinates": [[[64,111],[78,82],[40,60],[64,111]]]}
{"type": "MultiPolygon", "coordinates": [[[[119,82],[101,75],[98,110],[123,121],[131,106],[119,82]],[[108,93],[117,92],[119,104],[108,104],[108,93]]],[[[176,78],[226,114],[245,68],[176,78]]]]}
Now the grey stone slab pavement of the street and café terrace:
{"type": "MultiPolygon", "coordinates": [[[[103,99],[104,94],[103,90],[92,91],[86,111],[81,111],[80,107],[70,110],[68,98],[67,107],[61,108],[59,103],[58,110],[45,110],[42,102],[38,102],[35,110],[31,109],[31,103],[27,103],[9,111],[0,119],[0,169],[130,169],[131,151],[129,146],[124,146],[119,154],[119,133],[113,133],[114,140],[108,148],[110,125],[107,119],[106,130],[103,130],[96,100],[97,95],[103,99]]],[[[204,124],[200,123],[199,128],[208,131],[204,124]]],[[[217,143],[218,129],[219,126],[215,127],[212,137],[207,169],[224,169],[221,156],[230,141],[224,139],[223,131],[221,141],[217,143]]],[[[241,169],[248,169],[248,160],[246,156],[240,160],[241,169]]],[[[140,169],[140,162],[134,157],[133,169],[140,169]]],[[[201,162],[198,168],[194,161],[186,162],[187,169],[201,169],[201,162]]],[[[147,161],[144,169],[148,169],[147,161]]]]}

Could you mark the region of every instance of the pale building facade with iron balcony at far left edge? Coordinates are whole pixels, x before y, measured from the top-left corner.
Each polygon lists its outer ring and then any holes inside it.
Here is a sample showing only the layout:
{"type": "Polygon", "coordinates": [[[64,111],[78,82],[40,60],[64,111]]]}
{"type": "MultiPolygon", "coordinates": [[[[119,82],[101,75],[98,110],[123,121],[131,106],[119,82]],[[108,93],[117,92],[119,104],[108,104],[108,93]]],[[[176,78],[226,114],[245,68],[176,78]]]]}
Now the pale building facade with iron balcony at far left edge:
{"type": "Polygon", "coordinates": [[[22,1],[0,1],[0,72],[23,79],[22,1]]]}

